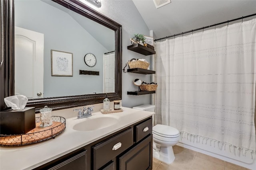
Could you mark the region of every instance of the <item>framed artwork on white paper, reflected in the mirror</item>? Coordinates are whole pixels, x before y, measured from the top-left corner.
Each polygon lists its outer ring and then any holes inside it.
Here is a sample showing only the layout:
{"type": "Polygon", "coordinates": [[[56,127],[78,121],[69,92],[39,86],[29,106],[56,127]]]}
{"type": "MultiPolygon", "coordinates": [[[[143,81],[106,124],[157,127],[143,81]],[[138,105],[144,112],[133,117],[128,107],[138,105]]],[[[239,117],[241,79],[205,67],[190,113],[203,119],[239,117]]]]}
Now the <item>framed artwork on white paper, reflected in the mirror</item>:
{"type": "Polygon", "coordinates": [[[52,76],[73,76],[73,53],[51,50],[52,76]]]}

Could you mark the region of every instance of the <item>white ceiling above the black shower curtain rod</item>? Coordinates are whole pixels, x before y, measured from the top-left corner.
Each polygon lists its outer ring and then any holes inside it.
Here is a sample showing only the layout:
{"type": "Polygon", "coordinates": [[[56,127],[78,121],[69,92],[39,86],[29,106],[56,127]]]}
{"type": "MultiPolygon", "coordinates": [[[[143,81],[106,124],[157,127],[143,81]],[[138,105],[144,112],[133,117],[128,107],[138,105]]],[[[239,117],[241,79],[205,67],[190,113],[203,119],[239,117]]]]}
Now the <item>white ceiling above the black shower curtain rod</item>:
{"type": "Polygon", "coordinates": [[[171,0],[158,9],[153,0],[133,2],[154,39],[256,13],[256,0],[171,0]]]}

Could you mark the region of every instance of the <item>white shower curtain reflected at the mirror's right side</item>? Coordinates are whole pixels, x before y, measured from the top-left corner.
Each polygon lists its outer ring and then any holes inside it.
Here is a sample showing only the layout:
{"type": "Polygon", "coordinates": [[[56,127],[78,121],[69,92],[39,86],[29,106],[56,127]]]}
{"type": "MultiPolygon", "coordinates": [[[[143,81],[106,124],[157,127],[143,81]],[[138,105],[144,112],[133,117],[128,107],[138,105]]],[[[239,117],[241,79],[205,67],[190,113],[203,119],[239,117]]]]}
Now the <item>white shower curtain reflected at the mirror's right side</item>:
{"type": "Polygon", "coordinates": [[[115,52],[104,54],[103,93],[115,92],[115,52]]]}

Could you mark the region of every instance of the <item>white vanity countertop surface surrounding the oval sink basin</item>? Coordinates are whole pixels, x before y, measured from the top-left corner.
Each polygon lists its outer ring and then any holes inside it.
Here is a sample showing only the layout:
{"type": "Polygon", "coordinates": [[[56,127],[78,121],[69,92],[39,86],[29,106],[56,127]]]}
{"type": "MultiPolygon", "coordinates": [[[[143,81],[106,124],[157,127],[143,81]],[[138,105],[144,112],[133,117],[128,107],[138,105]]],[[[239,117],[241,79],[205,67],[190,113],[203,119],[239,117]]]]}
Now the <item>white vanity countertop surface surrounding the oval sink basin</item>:
{"type": "Polygon", "coordinates": [[[36,168],[154,114],[127,107],[122,107],[122,109],[123,112],[111,114],[102,114],[98,111],[92,113],[91,117],[83,119],[68,118],[66,119],[65,131],[56,136],[55,139],[20,147],[0,147],[0,170],[36,168]],[[114,125],[94,131],[76,131],[73,129],[77,123],[95,117],[115,117],[118,121],[114,125]]]}

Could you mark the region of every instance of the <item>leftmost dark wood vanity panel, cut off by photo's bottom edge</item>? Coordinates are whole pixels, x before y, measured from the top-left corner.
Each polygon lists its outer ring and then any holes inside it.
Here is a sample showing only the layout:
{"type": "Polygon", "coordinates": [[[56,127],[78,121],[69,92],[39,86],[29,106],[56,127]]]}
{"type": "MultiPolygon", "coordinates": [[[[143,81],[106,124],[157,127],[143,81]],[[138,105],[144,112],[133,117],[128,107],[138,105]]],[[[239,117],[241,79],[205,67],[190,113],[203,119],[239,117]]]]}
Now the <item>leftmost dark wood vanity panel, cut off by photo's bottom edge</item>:
{"type": "Polygon", "coordinates": [[[64,160],[48,170],[87,170],[87,150],[64,160]]]}

